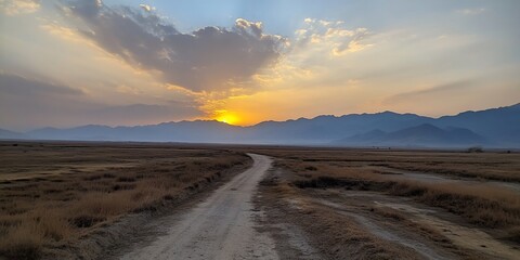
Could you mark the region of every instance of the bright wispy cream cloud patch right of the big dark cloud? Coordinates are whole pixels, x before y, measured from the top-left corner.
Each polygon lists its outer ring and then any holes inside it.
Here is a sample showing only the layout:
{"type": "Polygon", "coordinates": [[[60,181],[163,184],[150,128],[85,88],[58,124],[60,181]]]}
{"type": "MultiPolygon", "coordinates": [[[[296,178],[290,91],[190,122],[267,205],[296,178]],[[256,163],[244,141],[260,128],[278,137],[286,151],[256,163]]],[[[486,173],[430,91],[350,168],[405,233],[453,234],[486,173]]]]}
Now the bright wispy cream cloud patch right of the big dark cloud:
{"type": "Polygon", "coordinates": [[[353,67],[375,46],[374,36],[367,28],[347,28],[343,21],[306,18],[288,42],[289,51],[257,74],[255,83],[262,90],[350,86],[353,67]]]}

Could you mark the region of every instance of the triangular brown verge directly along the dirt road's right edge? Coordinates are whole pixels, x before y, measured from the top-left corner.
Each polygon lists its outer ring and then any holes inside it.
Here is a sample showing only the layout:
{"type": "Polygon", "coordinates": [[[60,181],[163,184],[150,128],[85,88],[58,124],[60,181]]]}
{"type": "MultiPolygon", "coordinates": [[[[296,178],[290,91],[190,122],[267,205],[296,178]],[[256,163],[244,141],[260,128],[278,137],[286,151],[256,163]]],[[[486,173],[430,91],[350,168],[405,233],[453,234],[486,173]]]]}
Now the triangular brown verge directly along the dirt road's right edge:
{"type": "Polygon", "coordinates": [[[285,186],[283,179],[282,171],[271,171],[262,181],[260,196],[256,199],[265,211],[264,226],[273,234],[281,258],[425,259],[411,247],[380,237],[382,232],[372,233],[359,222],[364,217],[349,216],[323,200],[295,193],[285,186]]]}

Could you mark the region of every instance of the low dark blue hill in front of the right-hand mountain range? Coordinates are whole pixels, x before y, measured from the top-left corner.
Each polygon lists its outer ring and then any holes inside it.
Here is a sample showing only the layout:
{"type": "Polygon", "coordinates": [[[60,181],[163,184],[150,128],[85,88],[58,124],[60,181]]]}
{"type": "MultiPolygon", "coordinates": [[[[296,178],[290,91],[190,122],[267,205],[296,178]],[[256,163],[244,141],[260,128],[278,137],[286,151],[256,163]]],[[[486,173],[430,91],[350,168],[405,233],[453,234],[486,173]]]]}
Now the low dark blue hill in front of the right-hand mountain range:
{"type": "Polygon", "coordinates": [[[341,139],[333,144],[353,146],[429,146],[460,147],[487,144],[487,140],[464,128],[441,129],[430,123],[422,123],[394,132],[373,130],[363,134],[341,139]]]}

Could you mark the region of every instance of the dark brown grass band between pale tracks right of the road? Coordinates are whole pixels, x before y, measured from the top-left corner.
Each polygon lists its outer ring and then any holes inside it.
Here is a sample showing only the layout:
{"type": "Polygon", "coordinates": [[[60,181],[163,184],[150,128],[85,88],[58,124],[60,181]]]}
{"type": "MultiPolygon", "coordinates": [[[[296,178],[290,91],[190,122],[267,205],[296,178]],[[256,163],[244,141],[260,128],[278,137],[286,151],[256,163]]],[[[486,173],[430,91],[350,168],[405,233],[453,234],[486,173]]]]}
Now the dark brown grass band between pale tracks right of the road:
{"type": "Polygon", "coordinates": [[[329,172],[320,172],[311,179],[296,179],[292,183],[300,188],[342,187],[387,192],[391,195],[413,197],[427,205],[444,208],[482,227],[520,227],[520,197],[515,191],[455,183],[395,181],[369,172],[365,174],[349,174],[348,172],[338,172],[338,169],[334,169],[329,172]]]}

